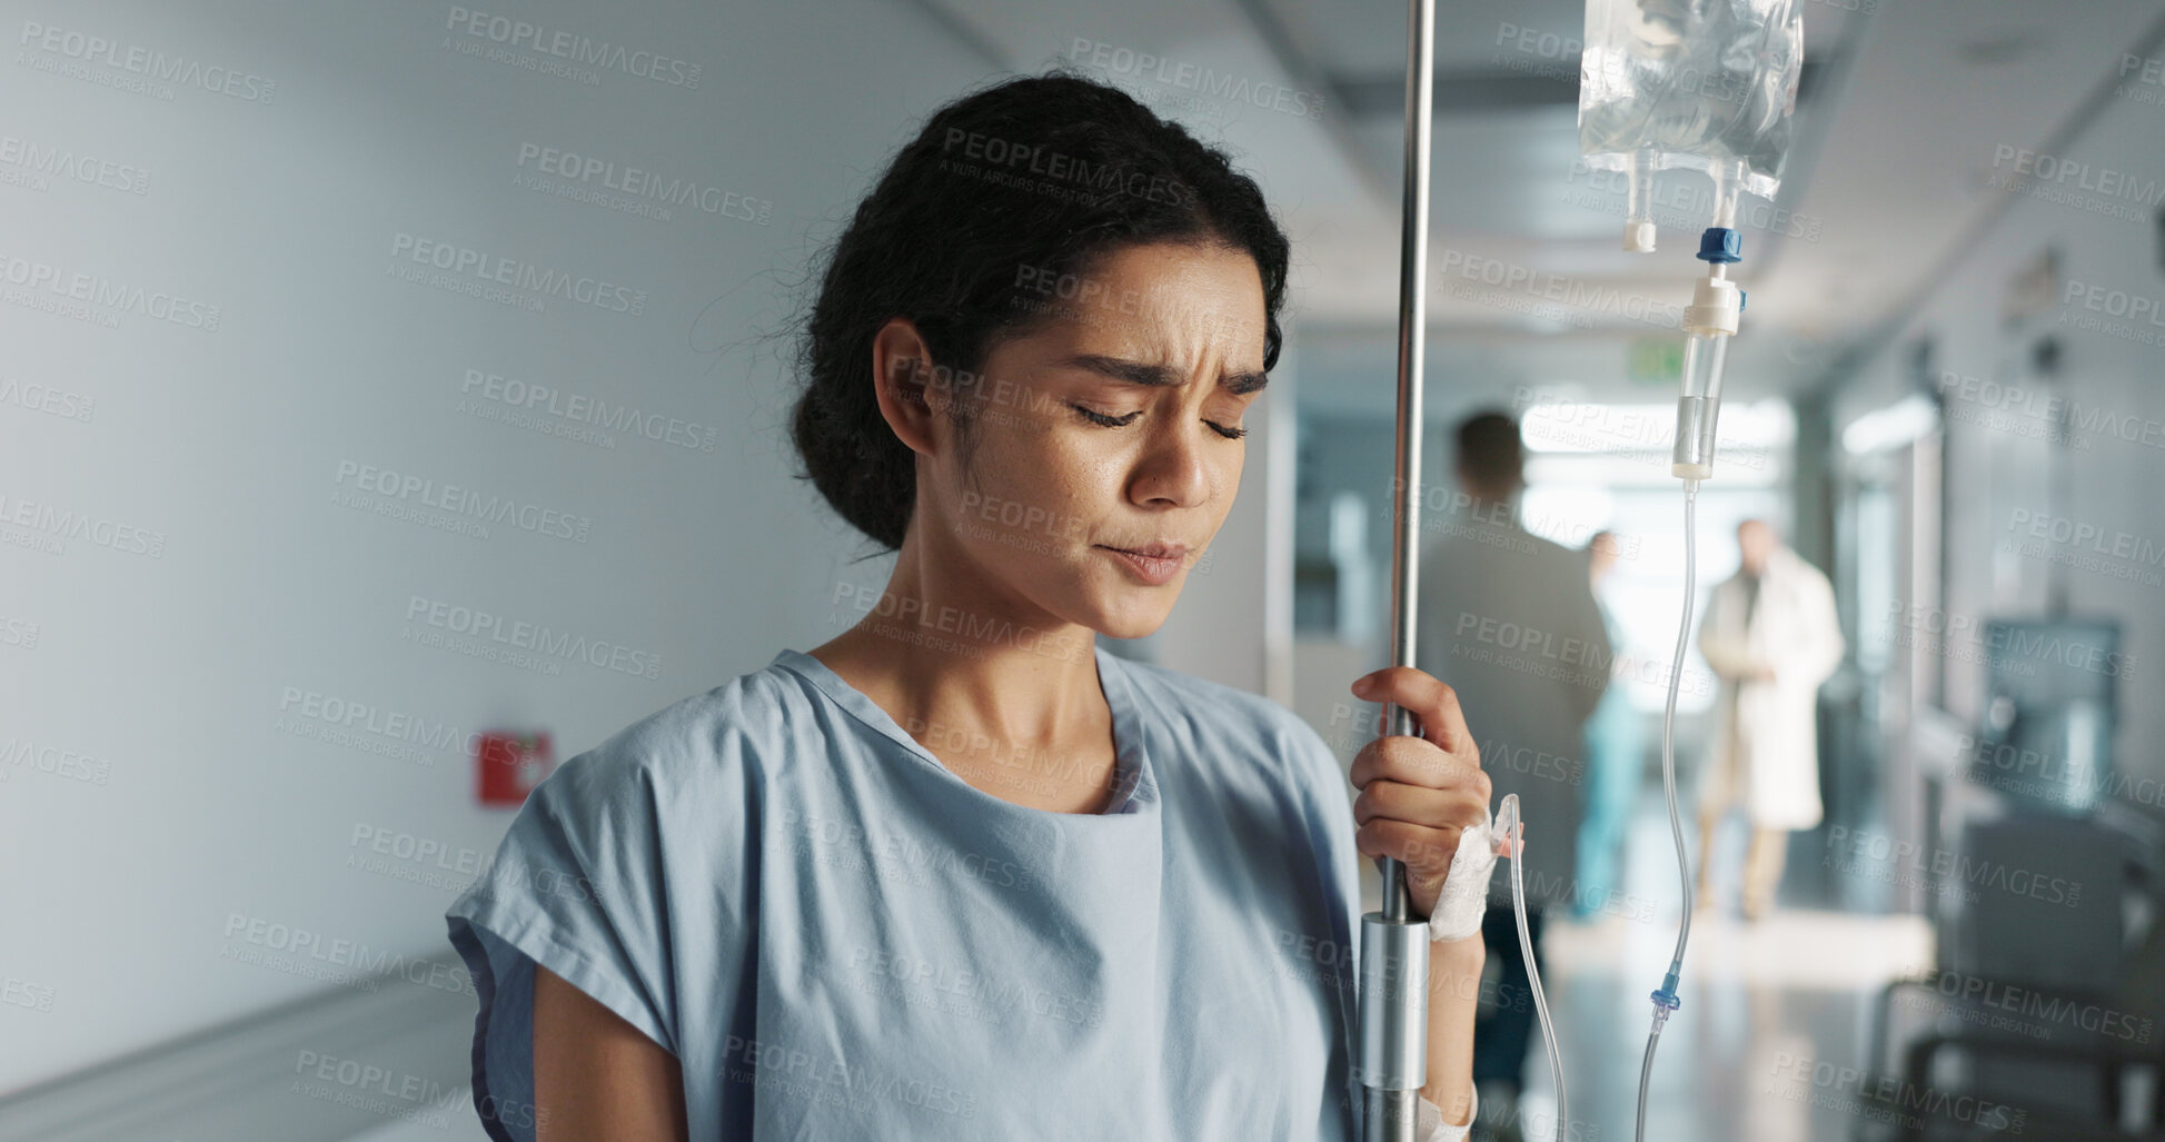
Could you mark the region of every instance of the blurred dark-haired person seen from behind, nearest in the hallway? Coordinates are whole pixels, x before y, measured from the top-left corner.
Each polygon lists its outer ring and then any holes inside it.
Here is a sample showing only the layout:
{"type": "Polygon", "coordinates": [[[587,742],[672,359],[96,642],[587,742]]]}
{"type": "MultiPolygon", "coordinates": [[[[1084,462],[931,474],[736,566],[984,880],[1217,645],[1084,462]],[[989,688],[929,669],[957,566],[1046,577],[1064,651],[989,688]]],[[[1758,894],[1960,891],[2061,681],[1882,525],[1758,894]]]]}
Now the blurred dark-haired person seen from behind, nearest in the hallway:
{"type": "MultiPolygon", "coordinates": [[[[1520,524],[1526,479],[1518,423],[1500,412],[1468,416],[1455,446],[1461,494],[1440,520],[1422,522],[1440,535],[1420,555],[1416,661],[1468,711],[1494,789],[1490,808],[1518,793],[1526,821],[1526,932],[1539,966],[1544,908],[1570,908],[1578,895],[1580,728],[1609,685],[1609,633],[1585,557],[1520,524]]],[[[1518,1138],[1535,1012],[1503,860],[1490,878],[1481,938],[1498,969],[1498,1003],[1474,1021],[1474,1138],[1518,1138]]]]}

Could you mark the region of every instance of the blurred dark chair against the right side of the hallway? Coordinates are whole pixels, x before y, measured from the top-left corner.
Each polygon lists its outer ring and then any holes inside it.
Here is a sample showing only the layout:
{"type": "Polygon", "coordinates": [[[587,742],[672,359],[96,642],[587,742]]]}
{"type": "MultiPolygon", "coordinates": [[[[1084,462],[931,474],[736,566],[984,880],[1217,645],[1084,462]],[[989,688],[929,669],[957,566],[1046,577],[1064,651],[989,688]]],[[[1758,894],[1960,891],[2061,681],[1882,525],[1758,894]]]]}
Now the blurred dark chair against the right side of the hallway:
{"type": "Polygon", "coordinates": [[[2124,806],[1990,813],[1927,862],[1938,962],[1879,995],[1860,1112],[1884,1114],[1860,1114],[1860,1142],[2165,1140],[2165,925],[2126,947],[2126,917],[2159,914],[2156,826],[2124,806]],[[1894,1008],[1925,1027],[1894,1042],[1894,1008]]]}

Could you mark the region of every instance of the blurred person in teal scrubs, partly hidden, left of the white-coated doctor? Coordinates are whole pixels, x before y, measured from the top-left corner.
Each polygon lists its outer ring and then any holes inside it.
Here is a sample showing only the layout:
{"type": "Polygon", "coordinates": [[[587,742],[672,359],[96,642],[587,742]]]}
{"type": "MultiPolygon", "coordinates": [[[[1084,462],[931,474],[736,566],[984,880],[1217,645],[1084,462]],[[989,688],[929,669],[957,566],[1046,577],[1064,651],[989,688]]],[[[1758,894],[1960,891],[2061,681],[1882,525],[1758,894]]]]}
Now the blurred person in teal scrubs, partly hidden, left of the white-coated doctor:
{"type": "Polygon", "coordinates": [[[1645,728],[1630,704],[1630,687],[1624,685],[1632,663],[1624,654],[1624,628],[1617,626],[1615,607],[1602,598],[1602,581],[1615,570],[1622,546],[1613,531],[1596,531],[1587,540],[1587,581],[1593,585],[1609,646],[1615,648],[1615,665],[1609,689],[1587,719],[1585,821],[1578,826],[1578,895],[1572,897],[1572,919],[1580,921],[1617,895],[1617,858],[1639,795],[1645,748],[1645,728]]]}

